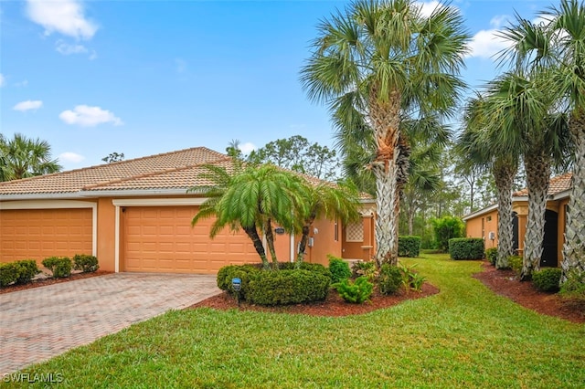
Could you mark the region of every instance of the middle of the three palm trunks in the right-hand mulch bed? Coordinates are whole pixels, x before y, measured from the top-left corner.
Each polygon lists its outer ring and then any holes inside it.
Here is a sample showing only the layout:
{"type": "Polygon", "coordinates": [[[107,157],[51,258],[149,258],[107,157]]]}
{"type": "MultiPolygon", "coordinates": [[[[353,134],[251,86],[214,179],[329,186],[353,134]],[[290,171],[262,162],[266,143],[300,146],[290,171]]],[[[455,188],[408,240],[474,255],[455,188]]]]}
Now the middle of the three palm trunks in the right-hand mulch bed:
{"type": "Polygon", "coordinates": [[[545,237],[550,157],[541,151],[527,152],[524,156],[524,168],[527,172],[528,217],[520,280],[531,279],[532,272],[540,268],[542,242],[545,237]]]}

